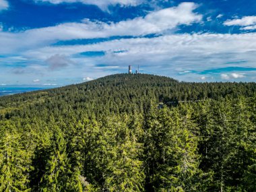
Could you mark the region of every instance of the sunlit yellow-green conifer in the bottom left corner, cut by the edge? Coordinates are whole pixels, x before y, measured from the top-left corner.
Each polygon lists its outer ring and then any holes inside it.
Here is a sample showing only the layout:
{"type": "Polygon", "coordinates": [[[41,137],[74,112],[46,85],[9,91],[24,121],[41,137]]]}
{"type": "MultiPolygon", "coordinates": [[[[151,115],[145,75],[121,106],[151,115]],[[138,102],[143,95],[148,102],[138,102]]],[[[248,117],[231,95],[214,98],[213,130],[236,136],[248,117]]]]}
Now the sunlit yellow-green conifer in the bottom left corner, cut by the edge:
{"type": "Polygon", "coordinates": [[[22,146],[22,137],[10,123],[0,127],[0,191],[30,191],[28,172],[31,153],[22,146]]]}

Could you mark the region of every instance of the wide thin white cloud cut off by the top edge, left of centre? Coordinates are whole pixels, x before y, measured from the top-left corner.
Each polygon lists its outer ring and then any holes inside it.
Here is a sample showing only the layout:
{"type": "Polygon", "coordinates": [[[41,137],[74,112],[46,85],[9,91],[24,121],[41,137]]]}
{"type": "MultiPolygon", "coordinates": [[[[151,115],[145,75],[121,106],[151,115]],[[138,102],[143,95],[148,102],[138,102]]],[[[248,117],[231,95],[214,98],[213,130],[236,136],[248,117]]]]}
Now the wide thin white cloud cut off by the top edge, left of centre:
{"type": "Polygon", "coordinates": [[[108,5],[137,6],[143,3],[143,0],[34,0],[34,1],[49,2],[53,4],[79,2],[87,5],[96,5],[103,10],[106,10],[108,8],[108,5]]]}

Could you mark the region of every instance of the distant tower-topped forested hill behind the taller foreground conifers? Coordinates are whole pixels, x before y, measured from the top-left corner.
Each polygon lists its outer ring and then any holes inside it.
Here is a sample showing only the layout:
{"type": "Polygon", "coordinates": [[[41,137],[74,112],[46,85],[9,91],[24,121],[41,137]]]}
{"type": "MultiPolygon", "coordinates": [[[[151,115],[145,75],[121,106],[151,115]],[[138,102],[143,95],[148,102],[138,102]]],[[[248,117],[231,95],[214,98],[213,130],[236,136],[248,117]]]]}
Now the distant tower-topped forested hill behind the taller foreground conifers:
{"type": "Polygon", "coordinates": [[[158,75],[116,74],[83,84],[5,96],[0,98],[0,112],[11,112],[5,113],[8,117],[15,115],[17,108],[19,113],[29,108],[26,115],[32,110],[41,114],[40,108],[47,108],[47,113],[83,108],[90,110],[88,115],[130,113],[134,108],[143,112],[148,104],[159,102],[251,97],[255,92],[255,83],[187,83],[158,75]]]}

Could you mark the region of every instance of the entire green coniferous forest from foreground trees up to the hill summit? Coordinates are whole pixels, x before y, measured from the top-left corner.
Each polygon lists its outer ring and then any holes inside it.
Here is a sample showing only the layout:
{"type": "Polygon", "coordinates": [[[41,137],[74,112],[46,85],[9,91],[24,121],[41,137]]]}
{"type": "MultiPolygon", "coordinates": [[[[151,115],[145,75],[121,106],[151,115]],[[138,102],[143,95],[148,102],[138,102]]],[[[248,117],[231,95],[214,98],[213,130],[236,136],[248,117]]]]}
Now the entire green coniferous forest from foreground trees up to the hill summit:
{"type": "Polygon", "coordinates": [[[256,191],[255,83],[109,75],[0,120],[0,191],[256,191]]]}

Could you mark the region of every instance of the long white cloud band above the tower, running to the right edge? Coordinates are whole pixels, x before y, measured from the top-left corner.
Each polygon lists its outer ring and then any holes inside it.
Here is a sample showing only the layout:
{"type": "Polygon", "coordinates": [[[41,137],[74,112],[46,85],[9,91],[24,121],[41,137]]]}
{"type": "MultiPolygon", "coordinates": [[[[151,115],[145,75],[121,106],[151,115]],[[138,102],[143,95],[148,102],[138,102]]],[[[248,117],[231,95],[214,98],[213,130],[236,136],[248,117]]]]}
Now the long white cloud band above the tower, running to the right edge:
{"type": "MultiPolygon", "coordinates": [[[[160,55],[172,59],[181,57],[180,60],[187,58],[205,57],[205,61],[218,63],[212,59],[224,59],[224,61],[253,61],[252,52],[256,51],[256,33],[250,34],[176,34],[164,35],[156,38],[129,38],[120,40],[110,40],[97,44],[75,45],[75,46],[47,46],[42,49],[34,49],[25,53],[27,57],[38,57],[46,55],[50,57],[55,54],[74,55],[86,51],[104,51],[106,57],[124,58],[131,55],[154,55],[148,59],[154,60],[160,55]],[[123,50],[123,52],[115,53],[123,50]],[[249,55],[247,55],[247,53],[249,55]],[[216,57],[220,55],[220,57],[216,57]],[[249,57],[251,55],[251,57],[249,57]],[[241,57],[243,56],[243,57],[241,57]]],[[[45,57],[45,56],[44,56],[45,57]]],[[[40,57],[38,57],[40,59],[40,57]]],[[[132,59],[132,58],[130,58],[132,59]]],[[[94,58],[94,60],[96,60],[94,58]]],[[[189,61],[193,63],[196,59],[189,61]]],[[[223,61],[222,61],[223,63],[223,61]]],[[[212,67],[211,65],[209,67],[212,67]]],[[[113,64],[114,65],[114,64],[113,64]]],[[[187,72],[187,69],[180,71],[187,72]]]]}

